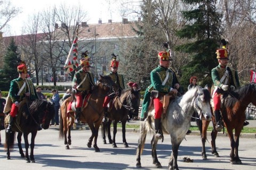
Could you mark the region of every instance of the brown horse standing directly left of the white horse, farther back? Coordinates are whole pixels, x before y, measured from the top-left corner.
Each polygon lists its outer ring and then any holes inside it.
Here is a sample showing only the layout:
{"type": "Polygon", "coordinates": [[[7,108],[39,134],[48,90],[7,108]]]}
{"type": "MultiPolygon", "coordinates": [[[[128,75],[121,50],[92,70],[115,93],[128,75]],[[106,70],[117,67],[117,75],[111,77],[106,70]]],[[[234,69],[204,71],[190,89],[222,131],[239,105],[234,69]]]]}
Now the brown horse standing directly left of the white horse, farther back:
{"type": "Polygon", "coordinates": [[[134,91],[133,89],[123,90],[120,97],[115,97],[114,105],[110,108],[108,121],[102,123],[102,135],[103,143],[106,144],[106,135],[105,132],[108,132],[109,143],[113,145],[113,148],[116,146],[116,132],[117,132],[117,123],[118,121],[122,122],[122,133],[123,133],[123,144],[124,147],[129,147],[126,138],[125,138],[125,124],[128,120],[129,111],[133,112],[135,115],[138,115],[139,106],[140,106],[140,90],[134,91]],[[110,134],[110,125],[113,122],[113,139],[111,139],[110,134]]]}

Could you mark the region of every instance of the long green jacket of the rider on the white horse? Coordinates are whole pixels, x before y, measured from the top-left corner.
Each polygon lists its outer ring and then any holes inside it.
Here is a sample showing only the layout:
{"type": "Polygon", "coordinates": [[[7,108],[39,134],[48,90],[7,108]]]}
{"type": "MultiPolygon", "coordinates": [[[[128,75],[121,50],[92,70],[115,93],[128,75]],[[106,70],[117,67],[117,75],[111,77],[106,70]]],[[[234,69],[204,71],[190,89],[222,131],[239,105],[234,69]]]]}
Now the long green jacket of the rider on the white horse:
{"type": "MultiPolygon", "coordinates": [[[[157,90],[158,92],[161,92],[162,94],[167,94],[171,91],[171,88],[174,88],[174,84],[179,83],[177,80],[177,77],[175,73],[171,69],[166,69],[162,66],[158,66],[156,69],[151,71],[150,73],[150,86],[145,91],[144,101],[142,104],[141,114],[140,114],[140,120],[143,121],[146,118],[146,113],[148,112],[148,107],[150,103],[150,92],[152,90],[157,90]],[[165,83],[165,85],[162,85],[166,78],[166,73],[169,72],[169,77],[165,83]]],[[[182,88],[179,88],[179,92],[182,88]]]]}

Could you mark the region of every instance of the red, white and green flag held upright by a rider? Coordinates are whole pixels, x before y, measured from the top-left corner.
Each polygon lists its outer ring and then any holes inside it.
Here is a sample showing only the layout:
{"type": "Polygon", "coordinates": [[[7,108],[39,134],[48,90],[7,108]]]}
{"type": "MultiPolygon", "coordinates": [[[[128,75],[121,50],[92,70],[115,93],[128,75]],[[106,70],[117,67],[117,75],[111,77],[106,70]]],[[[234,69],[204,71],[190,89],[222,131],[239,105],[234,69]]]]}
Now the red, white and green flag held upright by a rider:
{"type": "Polygon", "coordinates": [[[77,36],[75,37],[73,44],[69,50],[67,60],[64,65],[64,69],[67,73],[70,73],[71,71],[77,69],[78,67],[78,61],[77,61],[77,55],[78,55],[78,44],[77,44],[77,36]]]}

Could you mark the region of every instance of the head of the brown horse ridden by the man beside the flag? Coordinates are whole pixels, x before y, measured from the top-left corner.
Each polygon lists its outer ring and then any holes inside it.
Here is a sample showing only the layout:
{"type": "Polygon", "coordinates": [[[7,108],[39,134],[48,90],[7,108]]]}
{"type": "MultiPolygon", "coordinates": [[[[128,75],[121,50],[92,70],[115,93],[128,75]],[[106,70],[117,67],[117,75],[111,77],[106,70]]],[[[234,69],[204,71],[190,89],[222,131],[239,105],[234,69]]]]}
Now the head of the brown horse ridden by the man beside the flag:
{"type": "Polygon", "coordinates": [[[117,84],[108,75],[100,75],[99,83],[101,84],[103,90],[107,91],[108,93],[111,91],[116,92],[119,89],[117,84]]]}

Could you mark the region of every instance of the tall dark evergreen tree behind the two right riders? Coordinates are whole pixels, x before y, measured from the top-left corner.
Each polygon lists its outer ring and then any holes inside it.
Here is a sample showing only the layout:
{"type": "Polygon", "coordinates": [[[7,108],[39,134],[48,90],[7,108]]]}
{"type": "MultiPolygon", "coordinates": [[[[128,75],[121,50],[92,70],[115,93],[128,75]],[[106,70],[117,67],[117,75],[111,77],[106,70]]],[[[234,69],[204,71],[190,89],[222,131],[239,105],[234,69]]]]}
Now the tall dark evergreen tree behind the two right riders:
{"type": "Polygon", "coordinates": [[[182,67],[180,83],[183,86],[189,84],[191,76],[195,75],[202,86],[211,86],[211,70],[217,65],[216,49],[220,40],[221,14],[216,11],[215,0],[182,0],[191,6],[193,10],[183,11],[183,17],[187,24],[177,31],[177,36],[187,38],[188,43],[177,46],[179,52],[189,54],[188,64],[182,67]]]}

